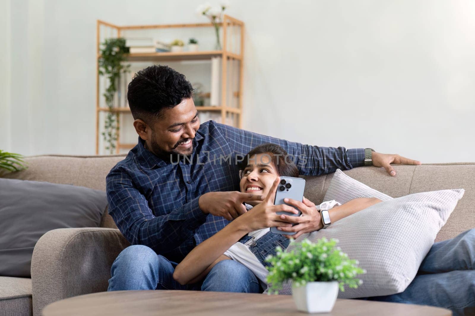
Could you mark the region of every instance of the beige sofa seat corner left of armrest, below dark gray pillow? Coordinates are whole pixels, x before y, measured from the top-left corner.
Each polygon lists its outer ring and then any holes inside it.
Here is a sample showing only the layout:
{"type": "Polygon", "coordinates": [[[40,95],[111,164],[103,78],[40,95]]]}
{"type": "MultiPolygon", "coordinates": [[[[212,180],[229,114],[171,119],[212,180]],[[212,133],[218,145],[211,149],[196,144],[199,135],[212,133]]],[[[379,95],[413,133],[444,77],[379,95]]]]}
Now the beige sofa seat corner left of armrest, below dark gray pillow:
{"type": "Polygon", "coordinates": [[[0,315],[32,315],[31,279],[0,277],[0,315]]]}

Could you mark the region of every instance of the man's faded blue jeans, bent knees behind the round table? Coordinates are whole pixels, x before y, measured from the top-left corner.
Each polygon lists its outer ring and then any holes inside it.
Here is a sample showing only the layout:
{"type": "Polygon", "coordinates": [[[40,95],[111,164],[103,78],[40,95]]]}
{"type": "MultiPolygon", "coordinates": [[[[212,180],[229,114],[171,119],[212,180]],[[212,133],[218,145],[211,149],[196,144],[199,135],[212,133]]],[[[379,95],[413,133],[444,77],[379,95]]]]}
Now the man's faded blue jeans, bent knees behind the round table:
{"type": "Polygon", "coordinates": [[[143,245],[125,248],[112,264],[108,291],[134,289],[187,289],[216,292],[259,293],[259,280],[234,260],[218,262],[199,283],[181,285],[173,280],[177,263],[143,245]]]}

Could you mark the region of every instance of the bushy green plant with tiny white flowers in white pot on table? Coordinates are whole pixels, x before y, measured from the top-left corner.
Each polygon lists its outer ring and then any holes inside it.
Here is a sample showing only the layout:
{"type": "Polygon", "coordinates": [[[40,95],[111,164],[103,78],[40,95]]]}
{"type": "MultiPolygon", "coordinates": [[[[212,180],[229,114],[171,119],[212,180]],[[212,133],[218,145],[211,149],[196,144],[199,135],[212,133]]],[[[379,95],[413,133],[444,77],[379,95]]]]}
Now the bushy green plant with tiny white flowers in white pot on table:
{"type": "Polygon", "coordinates": [[[271,264],[267,267],[268,293],[277,294],[284,282],[292,281],[292,297],[299,311],[332,311],[338,289],[343,292],[345,284],[357,288],[362,282],[356,276],[366,272],[336,244],[335,239],[322,238],[316,243],[292,241],[287,252],[277,247],[276,255],[266,258],[271,264]]]}

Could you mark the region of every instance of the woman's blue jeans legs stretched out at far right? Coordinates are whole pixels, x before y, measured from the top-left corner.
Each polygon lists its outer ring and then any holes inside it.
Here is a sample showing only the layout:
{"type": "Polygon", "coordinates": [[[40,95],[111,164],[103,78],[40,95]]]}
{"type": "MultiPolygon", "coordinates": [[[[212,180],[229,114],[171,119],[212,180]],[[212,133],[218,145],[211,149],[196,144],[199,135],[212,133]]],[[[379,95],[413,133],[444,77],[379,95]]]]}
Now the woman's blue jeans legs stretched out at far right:
{"type": "Polygon", "coordinates": [[[430,305],[475,315],[475,229],[435,243],[404,292],[368,300],[430,305]]]}

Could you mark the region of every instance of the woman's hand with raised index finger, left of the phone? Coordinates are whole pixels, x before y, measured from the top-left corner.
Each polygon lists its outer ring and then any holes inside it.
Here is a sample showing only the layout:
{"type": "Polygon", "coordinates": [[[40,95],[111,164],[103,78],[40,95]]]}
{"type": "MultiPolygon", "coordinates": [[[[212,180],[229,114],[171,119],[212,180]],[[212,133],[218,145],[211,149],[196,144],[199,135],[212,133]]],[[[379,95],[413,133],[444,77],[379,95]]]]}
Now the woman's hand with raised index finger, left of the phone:
{"type": "Polygon", "coordinates": [[[291,206],[285,204],[274,205],[279,182],[280,177],[277,177],[266,198],[245,214],[237,217],[233,222],[239,224],[239,226],[247,232],[267,227],[291,227],[292,224],[285,223],[281,217],[276,214],[276,212],[283,211],[298,214],[298,211],[291,206]]]}

